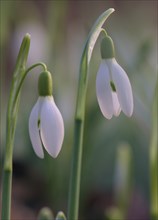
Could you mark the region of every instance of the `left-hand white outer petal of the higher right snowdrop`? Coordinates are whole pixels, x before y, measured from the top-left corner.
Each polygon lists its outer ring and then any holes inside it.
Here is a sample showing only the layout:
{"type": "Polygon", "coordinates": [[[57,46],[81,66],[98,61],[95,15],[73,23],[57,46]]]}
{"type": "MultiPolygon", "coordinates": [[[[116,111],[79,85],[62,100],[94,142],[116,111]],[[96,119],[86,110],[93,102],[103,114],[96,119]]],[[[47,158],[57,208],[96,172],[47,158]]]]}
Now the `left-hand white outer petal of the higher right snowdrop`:
{"type": "Polygon", "coordinates": [[[109,69],[105,60],[100,64],[96,78],[96,94],[102,114],[107,119],[113,115],[112,91],[110,86],[109,69]]]}

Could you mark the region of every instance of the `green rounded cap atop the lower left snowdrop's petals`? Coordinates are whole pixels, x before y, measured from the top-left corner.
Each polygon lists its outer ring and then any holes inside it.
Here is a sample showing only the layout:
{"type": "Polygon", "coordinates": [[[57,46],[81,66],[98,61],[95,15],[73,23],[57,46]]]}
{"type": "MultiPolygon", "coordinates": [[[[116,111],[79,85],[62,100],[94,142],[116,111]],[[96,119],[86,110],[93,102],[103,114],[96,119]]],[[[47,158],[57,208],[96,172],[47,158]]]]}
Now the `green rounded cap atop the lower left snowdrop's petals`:
{"type": "Polygon", "coordinates": [[[38,80],[38,93],[39,96],[51,96],[52,95],[52,76],[50,72],[42,72],[38,80]]]}

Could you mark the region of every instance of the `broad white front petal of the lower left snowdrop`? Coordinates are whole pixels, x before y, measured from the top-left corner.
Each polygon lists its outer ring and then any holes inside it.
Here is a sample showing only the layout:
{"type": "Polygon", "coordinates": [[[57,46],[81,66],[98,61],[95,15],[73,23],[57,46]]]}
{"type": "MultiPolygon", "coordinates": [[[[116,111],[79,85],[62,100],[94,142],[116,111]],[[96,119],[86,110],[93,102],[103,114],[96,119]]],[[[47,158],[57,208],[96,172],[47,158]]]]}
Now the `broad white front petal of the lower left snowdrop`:
{"type": "Polygon", "coordinates": [[[64,139],[64,123],[52,96],[44,98],[40,131],[45,149],[52,157],[57,157],[64,139]]]}

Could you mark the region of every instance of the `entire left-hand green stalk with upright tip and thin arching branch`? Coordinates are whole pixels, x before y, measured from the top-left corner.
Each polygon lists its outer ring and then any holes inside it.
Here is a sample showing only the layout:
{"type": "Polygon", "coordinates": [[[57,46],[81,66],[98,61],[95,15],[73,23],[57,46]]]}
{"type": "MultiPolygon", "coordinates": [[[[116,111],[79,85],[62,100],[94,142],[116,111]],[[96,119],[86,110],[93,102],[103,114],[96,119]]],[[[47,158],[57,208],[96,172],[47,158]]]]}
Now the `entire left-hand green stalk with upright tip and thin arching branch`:
{"type": "Polygon", "coordinates": [[[46,70],[43,63],[37,63],[26,69],[26,62],[30,48],[30,35],[26,34],[23,38],[20,51],[17,57],[15,70],[13,72],[13,80],[9,95],[6,121],[6,148],[3,165],[3,181],[2,181],[2,214],[1,219],[10,220],[11,215],[11,193],[12,193],[12,170],[13,170],[13,146],[14,136],[19,110],[20,92],[23,81],[27,73],[37,66],[42,66],[46,70]]]}

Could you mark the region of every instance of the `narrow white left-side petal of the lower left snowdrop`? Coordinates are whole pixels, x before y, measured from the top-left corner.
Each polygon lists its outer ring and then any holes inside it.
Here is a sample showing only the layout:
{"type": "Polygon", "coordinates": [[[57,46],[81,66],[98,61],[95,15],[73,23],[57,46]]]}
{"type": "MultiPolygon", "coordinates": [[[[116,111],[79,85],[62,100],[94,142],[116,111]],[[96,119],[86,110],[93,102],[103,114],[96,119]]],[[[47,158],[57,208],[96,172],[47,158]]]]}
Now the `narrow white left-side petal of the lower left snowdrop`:
{"type": "Polygon", "coordinates": [[[43,148],[39,135],[38,118],[39,118],[40,100],[34,105],[29,118],[29,135],[33,149],[38,157],[43,158],[43,148]]]}

